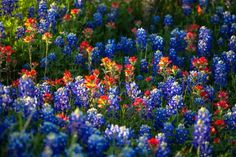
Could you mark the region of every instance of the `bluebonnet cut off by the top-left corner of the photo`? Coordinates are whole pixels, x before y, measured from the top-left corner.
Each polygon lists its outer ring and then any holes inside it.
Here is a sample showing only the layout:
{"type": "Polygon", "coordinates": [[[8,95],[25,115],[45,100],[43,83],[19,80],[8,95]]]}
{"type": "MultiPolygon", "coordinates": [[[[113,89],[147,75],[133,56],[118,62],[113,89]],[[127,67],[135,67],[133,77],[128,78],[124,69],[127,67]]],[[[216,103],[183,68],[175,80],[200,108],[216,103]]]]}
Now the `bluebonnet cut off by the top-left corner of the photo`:
{"type": "Polygon", "coordinates": [[[12,12],[18,7],[18,0],[2,0],[1,11],[4,15],[12,15],[12,12]]]}

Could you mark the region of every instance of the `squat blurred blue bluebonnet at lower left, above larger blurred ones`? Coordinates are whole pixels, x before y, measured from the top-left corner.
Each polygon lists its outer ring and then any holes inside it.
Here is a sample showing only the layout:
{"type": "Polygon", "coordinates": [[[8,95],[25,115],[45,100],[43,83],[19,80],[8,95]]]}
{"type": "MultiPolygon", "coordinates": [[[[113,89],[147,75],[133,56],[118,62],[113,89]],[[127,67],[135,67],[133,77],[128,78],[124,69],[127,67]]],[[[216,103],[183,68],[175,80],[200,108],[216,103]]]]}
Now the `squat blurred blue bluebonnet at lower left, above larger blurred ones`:
{"type": "Polygon", "coordinates": [[[59,127],[51,122],[44,121],[40,126],[40,132],[47,135],[49,133],[58,133],[59,127]]]}

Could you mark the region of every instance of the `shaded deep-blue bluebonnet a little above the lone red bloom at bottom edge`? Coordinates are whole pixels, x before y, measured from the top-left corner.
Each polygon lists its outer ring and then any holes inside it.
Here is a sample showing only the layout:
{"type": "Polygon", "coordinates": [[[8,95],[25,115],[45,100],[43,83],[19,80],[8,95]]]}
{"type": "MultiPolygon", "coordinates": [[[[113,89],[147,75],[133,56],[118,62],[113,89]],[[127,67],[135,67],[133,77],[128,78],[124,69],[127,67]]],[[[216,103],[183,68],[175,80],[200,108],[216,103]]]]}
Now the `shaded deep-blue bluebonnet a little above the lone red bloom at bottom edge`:
{"type": "Polygon", "coordinates": [[[156,129],[163,127],[164,123],[168,120],[169,116],[165,108],[157,108],[155,113],[155,126],[156,129]]]}

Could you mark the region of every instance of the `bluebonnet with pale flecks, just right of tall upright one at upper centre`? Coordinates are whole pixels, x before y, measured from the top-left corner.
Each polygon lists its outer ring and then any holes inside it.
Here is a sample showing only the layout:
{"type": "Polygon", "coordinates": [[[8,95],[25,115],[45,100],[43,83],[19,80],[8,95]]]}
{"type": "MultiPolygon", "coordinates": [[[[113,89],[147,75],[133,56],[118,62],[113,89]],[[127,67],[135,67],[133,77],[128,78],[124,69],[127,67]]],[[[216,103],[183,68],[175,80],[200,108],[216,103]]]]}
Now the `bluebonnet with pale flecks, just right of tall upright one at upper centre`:
{"type": "Polygon", "coordinates": [[[163,51],[164,50],[164,40],[161,36],[158,36],[157,34],[151,34],[149,36],[150,44],[152,45],[153,51],[163,51]]]}

